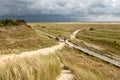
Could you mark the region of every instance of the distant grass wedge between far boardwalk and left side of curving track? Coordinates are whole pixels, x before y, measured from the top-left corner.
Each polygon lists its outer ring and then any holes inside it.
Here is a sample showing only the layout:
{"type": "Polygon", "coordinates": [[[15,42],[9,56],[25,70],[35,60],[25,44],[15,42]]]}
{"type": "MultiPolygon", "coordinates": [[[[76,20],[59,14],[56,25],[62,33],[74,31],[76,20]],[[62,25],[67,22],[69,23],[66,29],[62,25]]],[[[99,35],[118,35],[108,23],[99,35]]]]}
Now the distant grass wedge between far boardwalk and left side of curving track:
{"type": "Polygon", "coordinates": [[[59,24],[59,23],[28,23],[33,28],[55,35],[60,38],[69,38],[71,33],[77,30],[79,24],[59,24]]]}

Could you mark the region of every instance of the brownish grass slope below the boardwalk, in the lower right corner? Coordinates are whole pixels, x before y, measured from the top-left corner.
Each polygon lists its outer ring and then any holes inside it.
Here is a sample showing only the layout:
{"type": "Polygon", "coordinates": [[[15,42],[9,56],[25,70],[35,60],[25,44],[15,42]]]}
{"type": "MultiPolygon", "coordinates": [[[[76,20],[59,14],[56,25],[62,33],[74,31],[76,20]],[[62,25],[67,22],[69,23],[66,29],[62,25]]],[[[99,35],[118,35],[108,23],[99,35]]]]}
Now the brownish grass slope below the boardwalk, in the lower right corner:
{"type": "Polygon", "coordinates": [[[120,69],[88,56],[78,50],[65,47],[57,54],[62,63],[73,72],[75,80],[119,80],[120,69]]]}

